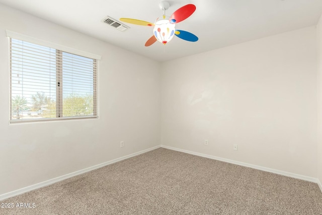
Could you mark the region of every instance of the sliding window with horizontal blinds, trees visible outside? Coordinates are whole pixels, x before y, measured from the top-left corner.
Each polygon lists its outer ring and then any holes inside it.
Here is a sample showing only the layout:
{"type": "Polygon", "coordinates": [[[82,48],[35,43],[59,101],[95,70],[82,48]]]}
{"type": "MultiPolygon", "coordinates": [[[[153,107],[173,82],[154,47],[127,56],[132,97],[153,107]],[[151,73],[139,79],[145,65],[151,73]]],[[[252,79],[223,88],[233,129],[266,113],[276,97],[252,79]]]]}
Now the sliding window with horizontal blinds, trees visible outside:
{"type": "Polygon", "coordinates": [[[97,60],[10,37],[10,122],[97,117],[97,60]]]}

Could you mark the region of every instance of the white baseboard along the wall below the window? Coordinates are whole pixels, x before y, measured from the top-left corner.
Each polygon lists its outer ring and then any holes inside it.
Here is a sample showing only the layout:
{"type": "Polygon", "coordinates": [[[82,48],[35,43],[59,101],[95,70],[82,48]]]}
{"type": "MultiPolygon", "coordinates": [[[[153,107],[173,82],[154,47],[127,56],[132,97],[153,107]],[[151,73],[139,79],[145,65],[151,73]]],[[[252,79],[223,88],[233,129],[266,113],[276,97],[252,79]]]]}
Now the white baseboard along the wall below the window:
{"type": "Polygon", "coordinates": [[[13,197],[13,196],[16,196],[16,195],[23,194],[25,192],[29,192],[31,190],[35,190],[35,189],[38,189],[38,188],[41,188],[41,187],[48,186],[50,184],[65,180],[67,178],[74,177],[76,175],[80,175],[80,174],[83,174],[83,173],[86,173],[86,172],[90,172],[92,170],[95,170],[95,169],[98,169],[98,168],[101,168],[101,167],[104,167],[104,166],[107,166],[107,165],[110,165],[110,164],[113,164],[113,163],[128,159],[128,158],[131,158],[131,157],[134,157],[134,156],[137,156],[137,155],[140,155],[140,154],[143,154],[143,153],[146,153],[146,152],[158,149],[158,148],[160,148],[160,146],[152,147],[150,149],[146,149],[146,150],[143,150],[143,151],[140,151],[140,152],[137,152],[137,153],[133,153],[131,155],[127,155],[127,156],[124,156],[124,157],[121,157],[121,158],[117,158],[117,159],[114,159],[112,161],[108,161],[108,162],[105,162],[105,163],[102,163],[102,164],[95,165],[93,167],[89,167],[89,168],[86,168],[86,169],[83,169],[83,170],[78,170],[78,171],[73,172],[73,173],[69,173],[69,174],[66,174],[66,175],[63,175],[63,176],[59,176],[57,178],[53,178],[53,179],[50,179],[50,180],[47,180],[47,181],[44,181],[44,182],[40,182],[38,184],[34,184],[34,185],[31,185],[31,186],[28,186],[28,187],[24,187],[24,188],[9,192],[9,193],[2,194],[2,195],[0,195],[0,201],[2,201],[4,199],[7,199],[7,198],[10,198],[10,197],[13,197]]]}

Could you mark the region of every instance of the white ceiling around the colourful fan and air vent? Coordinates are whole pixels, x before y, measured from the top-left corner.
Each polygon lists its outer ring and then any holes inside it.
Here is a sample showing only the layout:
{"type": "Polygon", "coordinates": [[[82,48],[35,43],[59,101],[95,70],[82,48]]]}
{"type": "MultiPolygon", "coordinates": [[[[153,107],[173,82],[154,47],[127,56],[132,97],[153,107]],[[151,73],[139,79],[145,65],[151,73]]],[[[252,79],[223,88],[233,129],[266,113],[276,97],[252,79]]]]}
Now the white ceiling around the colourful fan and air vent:
{"type": "Polygon", "coordinates": [[[167,45],[144,44],[153,33],[152,27],[126,24],[121,32],[101,22],[110,16],[116,20],[133,18],[154,23],[162,15],[160,0],[0,0],[0,3],[33,14],[78,32],[136,52],[165,61],[205,52],[277,33],[316,25],[322,13],[321,0],[175,0],[168,1],[170,16],[187,4],[196,11],[176,24],[176,29],[189,31],[199,37],[188,42],[178,37],[167,45]]]}

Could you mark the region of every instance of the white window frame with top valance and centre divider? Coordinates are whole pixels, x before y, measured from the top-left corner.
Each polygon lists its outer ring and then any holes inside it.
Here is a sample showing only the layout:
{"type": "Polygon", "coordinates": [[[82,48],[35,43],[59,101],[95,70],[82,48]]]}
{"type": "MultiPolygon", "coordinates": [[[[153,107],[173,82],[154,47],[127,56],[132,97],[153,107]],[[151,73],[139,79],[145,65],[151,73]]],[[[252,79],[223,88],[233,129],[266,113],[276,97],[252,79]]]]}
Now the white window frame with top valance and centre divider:
{"type": "MultiPolygon", "coordinates": [[[[35,119],[12,119],[12,56],[11,56],[11,49],[9,50],[9,57],[10,57],[10,114],[9,114],[9,122],[10,124],[12,123],[22,123],[22,122],[39,122],[39,121],[56,121],[56,120],[69,120],[69,119],[88,119],[88,118],[98,118],[98,67],[99,67],[99,60],[101,59],[100,55],[97,54],[92,54],[89,52],[85,52],[85,51],[81,51],[81,50],[77,50],[77,49],[73,49],[70,47],[66,47],[66,46],[62,46],[59,44],[55,44],[55,43],[51,43],[51,42],[47,42],[47,41],[43,41],[43,40],[39,40],[30,36],[26,36],[20,33],[16,33],[13,31],[6,31],[7,33],[7,37],[9,37],[10,40],[10,47],[11,47],[11,39],[17,39],[17,40],[22,40],[25,42],[29,42],[29,43],[33,43],[36,45],[41,45],[41,46],[45,46],[45,47],[49,47],[49,48],[53,48],[56,50],[56,61],[57,61],[57,56],[60,54],[60,56],[62,56],[61,54],[63,52],[66,53],[70,53],[73,55],[79,55],[82,57],[86,57],[86,58],[91,58],[93,59],[93,115],[85,115],[85,116],[60,116],[60,114],[62,114],[62,94],[63,91],[59,90],[59,86],[57,83],[57,80],[61,80],[62,76],[59,76],[59,72],[58,70],[61,72],[62,69],[61,67],[59,68],[59,66],[62,66],[62,57],[60,57],[60,62],[58,62],[58,64],[56,63],[56,77],[59,77],[59,79],[56,78],[56,93],[58,92],[58,94],[56,94],[56,117],[54,118],[35,118],[35,119]],[[96,78],[95,78],[96,77],[96,78]],[[60,98],[57,101],[57,95],[60,96],[60,98]]],[[[60,82],[61,83],[61,82],[60,82]]]]}

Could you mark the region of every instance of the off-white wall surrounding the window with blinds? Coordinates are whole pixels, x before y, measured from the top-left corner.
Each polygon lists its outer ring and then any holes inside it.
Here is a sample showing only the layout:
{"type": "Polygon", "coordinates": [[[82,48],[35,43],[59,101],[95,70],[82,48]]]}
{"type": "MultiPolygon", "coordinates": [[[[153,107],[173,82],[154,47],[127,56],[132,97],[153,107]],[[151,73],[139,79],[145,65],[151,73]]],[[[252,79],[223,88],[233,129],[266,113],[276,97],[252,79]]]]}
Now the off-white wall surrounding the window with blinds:
{"type": "Polygon", "coordinates": [[[0,5],[0,194],[158,146],[159,95],[158,62],[0,5]],[[9,125],[6,29],[101,55],[99,119],[9,125]]]}

